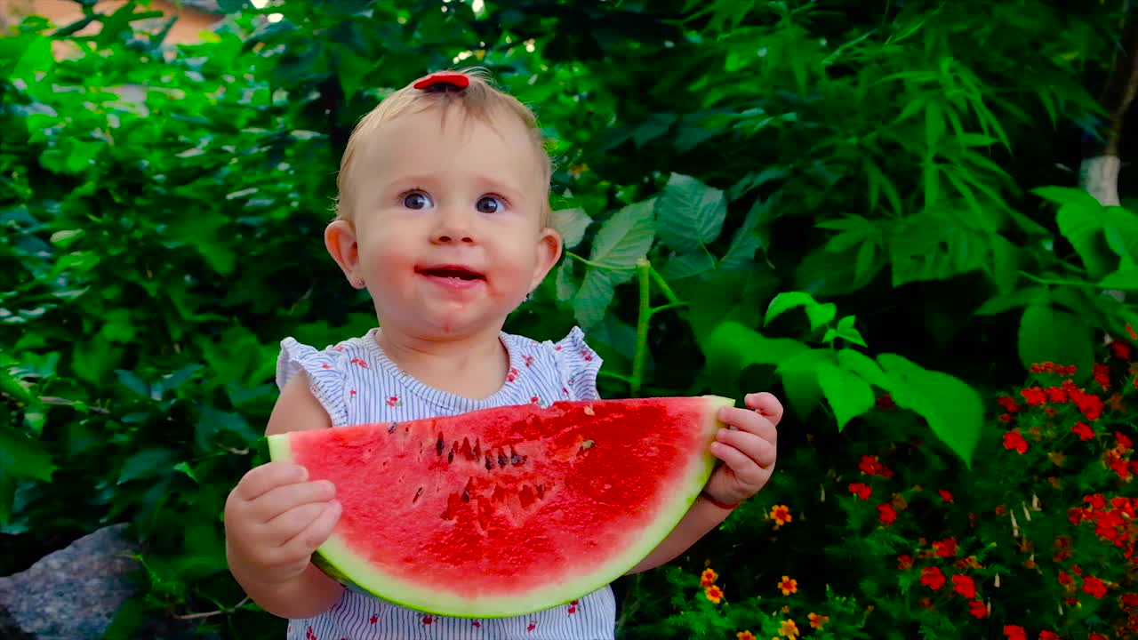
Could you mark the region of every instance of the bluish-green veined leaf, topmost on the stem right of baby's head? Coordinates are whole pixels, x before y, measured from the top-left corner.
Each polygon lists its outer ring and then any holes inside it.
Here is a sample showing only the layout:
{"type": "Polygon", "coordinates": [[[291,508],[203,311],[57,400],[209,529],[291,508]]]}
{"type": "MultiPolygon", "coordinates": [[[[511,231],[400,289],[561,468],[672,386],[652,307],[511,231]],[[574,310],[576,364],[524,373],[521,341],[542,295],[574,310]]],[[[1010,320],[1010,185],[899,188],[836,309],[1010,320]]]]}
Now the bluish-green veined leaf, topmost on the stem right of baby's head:
{"type": "Polygon", "coordinates": [[[673,173],[657,200],[660,240],[677,253],[695,253],[715,241],[727,216],[727,199],[719,189],[673,173]]]}

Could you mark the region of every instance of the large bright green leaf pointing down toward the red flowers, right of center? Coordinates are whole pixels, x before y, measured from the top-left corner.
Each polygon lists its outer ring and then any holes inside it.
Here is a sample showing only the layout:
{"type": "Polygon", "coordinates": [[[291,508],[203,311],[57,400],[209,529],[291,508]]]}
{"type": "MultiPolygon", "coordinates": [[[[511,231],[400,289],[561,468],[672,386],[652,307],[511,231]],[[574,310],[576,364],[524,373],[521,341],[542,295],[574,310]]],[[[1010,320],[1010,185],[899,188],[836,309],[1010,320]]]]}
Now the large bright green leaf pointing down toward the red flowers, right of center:
{"type": "Polygon", "coordinates": [[[889,378],[893,402],[923,417],[971,469],[984,418],[980,394],[956,377],[930,371],[894,353],[882,353],[877,362],[889,378]]]}

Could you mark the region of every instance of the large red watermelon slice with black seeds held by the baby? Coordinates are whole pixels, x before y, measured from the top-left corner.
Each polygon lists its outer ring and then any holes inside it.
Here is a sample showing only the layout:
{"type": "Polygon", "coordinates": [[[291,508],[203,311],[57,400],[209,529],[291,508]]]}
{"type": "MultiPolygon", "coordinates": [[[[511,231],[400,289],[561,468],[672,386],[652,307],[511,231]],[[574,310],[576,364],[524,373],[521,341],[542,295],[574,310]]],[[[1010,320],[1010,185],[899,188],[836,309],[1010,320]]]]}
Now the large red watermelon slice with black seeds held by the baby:
{"type": "Polygon", "coordinates": [[[270,436],[344,506],[314,561],[457,617],[578,599],[644,559],[715,465],[719,396],[556,402],[270,436]]]}

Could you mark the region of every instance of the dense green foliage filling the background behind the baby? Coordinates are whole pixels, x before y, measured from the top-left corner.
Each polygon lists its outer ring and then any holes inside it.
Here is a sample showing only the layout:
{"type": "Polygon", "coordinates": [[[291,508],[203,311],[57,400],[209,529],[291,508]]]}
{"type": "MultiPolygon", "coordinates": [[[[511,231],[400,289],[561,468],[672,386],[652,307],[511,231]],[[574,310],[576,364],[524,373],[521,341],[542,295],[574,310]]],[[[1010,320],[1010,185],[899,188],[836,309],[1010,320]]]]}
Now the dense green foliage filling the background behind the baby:
{"type": "MultiPolygon", "coordinates": [[[[851,452],[897,448],[958,499],[990,500],[1005,485],[968,484],[1005,471],[982,399],[1042,361],[1086,384],[1102,334],[1138,326],[1132,183],[1104,207],[1057,169],[1097,133],[1122,2],[226,1],[234,15],[182,46],[145,2],[82,5],[73,25],[32,17],[0,39],[0,535],[15,550],[0,573],[131,522],[149,588],[123,634],[148,608],[281,633],[229,577],[220,514],[261,461],[279,340],[374,322],[321,232],[358,116],[431,69],[488,67],[537,108],[558,159],[567,257],[509,329],[582,325],[605,396],[775,392],[792,411],[756,504],[801,515],[851,452]]],[[[865,564],[937,534],[836,503],[840,524],[777,551],[754,547],[769,523],[753,506],[703,545],[767,581],[739,593],[770,592],[773,556],[831,575],[794,610],[805,633],[828,633],[806,631],[817,609],[834,637],[999,635],[924,613],[915,577],[865,564]]],[[[622,633],[778,632],[768,602],[715,622],[699,590],[683,613],[635,597],[679,580],[618,585],[634,596],[622,633]]],[[[1037,593],[991,620],[1024,620],[1037,593]]]]}

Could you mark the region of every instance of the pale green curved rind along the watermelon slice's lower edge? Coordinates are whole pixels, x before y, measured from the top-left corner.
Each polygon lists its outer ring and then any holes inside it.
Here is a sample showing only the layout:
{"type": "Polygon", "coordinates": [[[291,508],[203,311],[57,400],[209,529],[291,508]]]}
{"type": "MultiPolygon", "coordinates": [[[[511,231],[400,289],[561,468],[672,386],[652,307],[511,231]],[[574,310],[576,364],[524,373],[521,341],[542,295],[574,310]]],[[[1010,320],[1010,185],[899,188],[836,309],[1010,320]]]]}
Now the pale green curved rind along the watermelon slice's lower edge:
{"type": "MultiPolygon", "coordinates": [[[[646,558],[676,528],[702,492],[717,460],[710,452],[710,444],[715,441],[716,432],[725,427],[718,419],[719,410],[724,407],[734,407],[735,401],[718,395],[696,397],[704,402],[703,453],[693,456],[687,468],[671,481],[674,493],[651,522],[641,527],[638,538],[621,553],[615,555],[607,563],[593,567],[593,571],[582,576],[509,596],[488,594],[469,598],[442,593],[372,566],[352,552],[344,536],[336,531],[316,549],[313,564],[348,589],[370,593],[424,614],[440,616],[514,617],[578,600],[612,583],[646,558]]],[[[288,434],[272,435],[267,441],[272,460],[294,460],[288,434]]]]}

